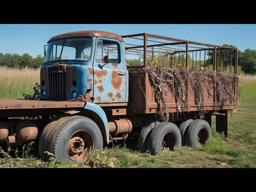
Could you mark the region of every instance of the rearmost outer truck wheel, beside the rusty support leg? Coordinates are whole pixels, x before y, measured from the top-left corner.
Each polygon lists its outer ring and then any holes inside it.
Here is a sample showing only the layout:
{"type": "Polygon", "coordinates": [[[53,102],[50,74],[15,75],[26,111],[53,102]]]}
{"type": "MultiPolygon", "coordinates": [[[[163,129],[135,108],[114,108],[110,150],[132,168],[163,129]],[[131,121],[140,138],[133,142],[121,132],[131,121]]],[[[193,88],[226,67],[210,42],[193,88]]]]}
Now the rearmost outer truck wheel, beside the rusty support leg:
{"type": "Polygon", "coordinates": [[[202,119],[196,119],[188,127],[186,145],[192,148],[198,147],[211,137],[212,130],[208,122],[202,119]]]}

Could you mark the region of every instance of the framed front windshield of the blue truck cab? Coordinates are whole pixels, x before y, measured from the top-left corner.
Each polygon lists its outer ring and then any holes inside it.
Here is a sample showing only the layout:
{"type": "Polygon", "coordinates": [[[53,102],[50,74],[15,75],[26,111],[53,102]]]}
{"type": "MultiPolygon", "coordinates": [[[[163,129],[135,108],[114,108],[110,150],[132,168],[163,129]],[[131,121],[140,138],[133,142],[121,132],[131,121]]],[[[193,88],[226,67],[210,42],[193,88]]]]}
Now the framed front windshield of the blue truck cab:
{"type": "Polygon", "coordinates": [[[70,38],[48,44],[44,62],[57,60],[89,61],[92,53],[91,38],[70,38]]]}

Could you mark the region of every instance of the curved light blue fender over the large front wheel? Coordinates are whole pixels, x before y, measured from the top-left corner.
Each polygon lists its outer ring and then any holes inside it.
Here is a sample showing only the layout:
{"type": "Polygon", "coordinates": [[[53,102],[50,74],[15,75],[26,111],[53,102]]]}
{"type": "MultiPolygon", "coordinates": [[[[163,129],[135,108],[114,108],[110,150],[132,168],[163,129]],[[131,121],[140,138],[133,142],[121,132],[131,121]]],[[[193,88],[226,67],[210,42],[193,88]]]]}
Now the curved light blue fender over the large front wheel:
{"type": "Polygon", "coordinates": [[[91,103],[91,102],[86,102],[84,108],[87,109],[87,110],[91,110],[92,112],[95,112],[101,118],[101,120],[102,120],[102,122],[104,123],[104,126],[105,126],[107,144],[108,144],[109,143],[108,119],[107,119],[107,116],[106,116],[104,110],[100,106],[98,106],[94,103],[91,103]]]}

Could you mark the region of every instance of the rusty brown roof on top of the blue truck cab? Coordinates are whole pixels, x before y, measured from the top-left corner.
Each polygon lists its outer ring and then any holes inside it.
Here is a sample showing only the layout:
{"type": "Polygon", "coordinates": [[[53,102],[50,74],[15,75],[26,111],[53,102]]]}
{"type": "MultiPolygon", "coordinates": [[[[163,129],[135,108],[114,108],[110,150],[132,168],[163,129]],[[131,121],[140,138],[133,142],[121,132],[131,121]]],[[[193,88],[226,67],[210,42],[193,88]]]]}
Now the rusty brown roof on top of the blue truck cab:
{"type": "Polygon", "coordinates": [[[68,33],[63,33],[60,35],[53,36],[51,38],[60,38],[60,37],[66,37],[66,36],[78,36],[78,35],[90,35],[90,36],[97,36],[97,37],[107,37],[107,38],[113,38],[113,39],[118,39],[119,41],[124,42],[123,38],[115,33],[110,33],[106,31],[97,31],[97,30],[87,30],[87,31],[75,31],[75,32],[68,32],[68,33]]]}

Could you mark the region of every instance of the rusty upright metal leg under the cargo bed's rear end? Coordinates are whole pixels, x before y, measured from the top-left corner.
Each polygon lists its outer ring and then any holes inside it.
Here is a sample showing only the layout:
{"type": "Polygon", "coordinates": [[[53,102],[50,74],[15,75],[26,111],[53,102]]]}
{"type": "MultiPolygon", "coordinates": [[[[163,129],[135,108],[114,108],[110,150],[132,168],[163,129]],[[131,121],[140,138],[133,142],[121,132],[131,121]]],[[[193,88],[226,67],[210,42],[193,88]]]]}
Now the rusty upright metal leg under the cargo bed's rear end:
{"type": "Polygon", "coordinates": [[[224,135],[228,136],[228,110],[218,111],[221,115],[216,115],[216,131],[224,132],[224,135]],[[225,115],[224,115],[225,114],[225,115]]]}

